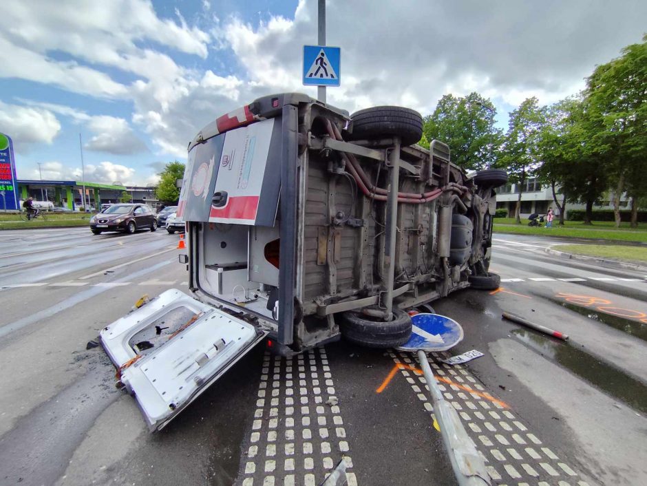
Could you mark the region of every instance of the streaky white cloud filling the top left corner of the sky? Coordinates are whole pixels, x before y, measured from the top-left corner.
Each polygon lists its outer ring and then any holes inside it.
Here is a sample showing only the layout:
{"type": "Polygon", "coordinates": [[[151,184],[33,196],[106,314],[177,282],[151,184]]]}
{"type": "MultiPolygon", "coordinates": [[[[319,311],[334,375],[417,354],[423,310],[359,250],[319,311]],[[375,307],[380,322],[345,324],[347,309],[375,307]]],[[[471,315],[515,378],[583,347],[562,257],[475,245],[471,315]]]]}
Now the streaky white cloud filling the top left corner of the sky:
{"type": "Polygon", "coordinates": [[[10,2],[2,13],[0,76],[91,96],[125,98],[129,89],[96,67],[56,60],[50,53],[147,77],[153,76],[155,64],[175,63],[139,43],[158,43],[202,58],[208,53],[209,34],[189,27],[179,13],[177,21],[160,19],[147,0],[10,2]]]}

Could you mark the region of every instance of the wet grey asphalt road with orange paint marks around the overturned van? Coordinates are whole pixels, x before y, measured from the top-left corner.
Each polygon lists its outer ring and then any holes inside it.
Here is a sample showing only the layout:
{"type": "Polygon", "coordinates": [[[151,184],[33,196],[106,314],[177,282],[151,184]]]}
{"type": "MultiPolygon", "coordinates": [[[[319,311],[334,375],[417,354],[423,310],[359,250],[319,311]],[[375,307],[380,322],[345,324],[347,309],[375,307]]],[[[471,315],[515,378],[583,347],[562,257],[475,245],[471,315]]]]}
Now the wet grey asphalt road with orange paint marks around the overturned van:
{"type": "MultiPolygon", "coordinates": [[[[350,485],[455,483],[414,356],[344,342],[292,359],[259,345],[149,434],[103,350],[85,348],[143,294],[187,290],[177,243],[165,231],[0,233],[1,485],[319,485],[342,460],[350,485]]],[[[445,354],[485,356],[430,362],[495,483],[646,484],[647,275],[546,244],[496,236],[502,287],[434,303],[465,330],[445,354]]]]}

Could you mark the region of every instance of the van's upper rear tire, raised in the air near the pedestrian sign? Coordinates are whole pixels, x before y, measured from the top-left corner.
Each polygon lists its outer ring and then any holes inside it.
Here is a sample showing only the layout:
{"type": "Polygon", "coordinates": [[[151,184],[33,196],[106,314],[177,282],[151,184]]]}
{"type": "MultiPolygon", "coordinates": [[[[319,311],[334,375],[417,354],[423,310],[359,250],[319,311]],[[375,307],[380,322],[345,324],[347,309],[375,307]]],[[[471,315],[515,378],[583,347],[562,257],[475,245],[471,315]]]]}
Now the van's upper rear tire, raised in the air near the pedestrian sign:
{"type": "Polygon", "coordinates": [[[350,116],[349,140],[370,140],[399,136],[402,145],[413,145],[423,136],[423,117],[414,109],[376,106],[361,109],[350,116]]]}

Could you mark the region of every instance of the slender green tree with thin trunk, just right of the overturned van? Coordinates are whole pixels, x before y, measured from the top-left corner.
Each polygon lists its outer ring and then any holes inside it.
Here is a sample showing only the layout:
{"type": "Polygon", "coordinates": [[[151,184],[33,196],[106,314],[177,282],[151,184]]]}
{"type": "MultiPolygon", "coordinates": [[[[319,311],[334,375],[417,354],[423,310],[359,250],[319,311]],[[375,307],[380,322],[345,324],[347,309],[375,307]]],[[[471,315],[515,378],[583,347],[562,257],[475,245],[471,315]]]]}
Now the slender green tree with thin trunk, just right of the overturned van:
{"type": "Polygon", "coordinates": [[[524,100],[509,116],[508,131],[498,165],[508,171],[509,181],[518,187],[519,196],[515,209],[518,224],[521,223],[521,196],[524,185],[540,166],[538,142],[544,119],[544,109],[539,107],[534,96],[524,100]]]}

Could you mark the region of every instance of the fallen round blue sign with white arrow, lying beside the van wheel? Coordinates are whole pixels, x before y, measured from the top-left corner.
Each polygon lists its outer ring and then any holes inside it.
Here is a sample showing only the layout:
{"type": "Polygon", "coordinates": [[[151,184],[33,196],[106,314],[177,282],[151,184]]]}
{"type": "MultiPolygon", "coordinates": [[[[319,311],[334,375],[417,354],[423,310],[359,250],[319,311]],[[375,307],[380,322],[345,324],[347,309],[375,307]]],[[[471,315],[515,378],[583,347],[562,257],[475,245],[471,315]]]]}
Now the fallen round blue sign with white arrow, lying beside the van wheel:
{"type": "Polygon", "coordinates": [[[463,328],[454,319],[438,314],[416,314],[411,317],[409,341],[399,346],[401,351],[446,351],[463,341],[463,328]]]}

